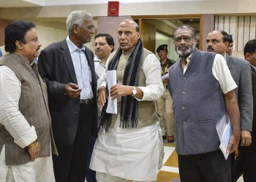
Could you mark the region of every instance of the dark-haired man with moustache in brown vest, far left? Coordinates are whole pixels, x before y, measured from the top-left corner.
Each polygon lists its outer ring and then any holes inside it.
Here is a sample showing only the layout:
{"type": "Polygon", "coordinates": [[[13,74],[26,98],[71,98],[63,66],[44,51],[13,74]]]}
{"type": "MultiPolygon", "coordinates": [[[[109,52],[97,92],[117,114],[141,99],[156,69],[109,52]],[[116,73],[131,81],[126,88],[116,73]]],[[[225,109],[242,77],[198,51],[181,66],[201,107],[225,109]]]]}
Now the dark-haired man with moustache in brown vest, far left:
{"type": "Polygon", "coordinates": [[[10,55],[0,60],[0,181],[53,182],[47,90],[34,58],[42,44],[34,23],[5,29],[10,55]],[[37,113],[38,111],[38,113],[37,113]]]}

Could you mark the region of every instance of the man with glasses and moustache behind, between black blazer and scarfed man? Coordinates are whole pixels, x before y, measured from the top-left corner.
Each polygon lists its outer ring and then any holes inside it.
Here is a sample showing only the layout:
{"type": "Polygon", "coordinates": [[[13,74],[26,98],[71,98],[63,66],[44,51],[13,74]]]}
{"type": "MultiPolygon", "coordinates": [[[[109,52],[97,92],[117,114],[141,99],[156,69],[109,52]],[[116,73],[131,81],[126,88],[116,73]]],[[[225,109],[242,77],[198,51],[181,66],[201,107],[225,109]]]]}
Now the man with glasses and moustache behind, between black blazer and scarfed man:
{"type": "Polygon", "coordinates": [[[97,76],[97,88],[101,82],[101,77],[105,73],[106,62],[114,50],[114,40],[113,37],[108,33],[99,33],[95,36],[94,41],[94,66],[97,76]]]}

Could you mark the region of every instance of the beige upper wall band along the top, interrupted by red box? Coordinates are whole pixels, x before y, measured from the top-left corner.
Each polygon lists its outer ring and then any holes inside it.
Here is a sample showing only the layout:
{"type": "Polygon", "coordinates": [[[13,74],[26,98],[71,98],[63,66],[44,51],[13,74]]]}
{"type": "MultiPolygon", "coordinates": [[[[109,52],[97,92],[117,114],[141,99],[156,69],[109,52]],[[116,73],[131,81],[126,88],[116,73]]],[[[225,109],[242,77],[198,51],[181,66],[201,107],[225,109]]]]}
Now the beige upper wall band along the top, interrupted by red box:
{"type": "MultiPolygon", "coordinates": [[[[256,13],[255,7],[255,0],[198,0],[132,4],[121,3],[119,16],[256,13]]],[[[0,8],[0,18],[67,17],[70,12],[77,9],[91,12],[95,17],[108,15],[108,4],[80,4],[49,7],[0,8]]]]}

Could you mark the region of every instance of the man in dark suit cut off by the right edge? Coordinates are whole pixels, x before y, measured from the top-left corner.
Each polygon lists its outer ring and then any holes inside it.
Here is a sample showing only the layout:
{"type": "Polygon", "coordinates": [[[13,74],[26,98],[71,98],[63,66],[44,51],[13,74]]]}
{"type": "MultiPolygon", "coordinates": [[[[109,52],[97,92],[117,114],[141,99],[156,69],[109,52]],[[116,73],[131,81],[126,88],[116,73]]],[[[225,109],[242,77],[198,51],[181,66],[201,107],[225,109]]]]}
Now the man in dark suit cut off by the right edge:
{"type": "Polygon", "coordinates": [[[244,182],[254,182],[256,179],[256,39],[248,41],[244,46],[244,58],[249,61],[252,69],[252,95],[253,95],[253,120],[252,144],[239,150],[239,163],[243,173],[244,182]]]}

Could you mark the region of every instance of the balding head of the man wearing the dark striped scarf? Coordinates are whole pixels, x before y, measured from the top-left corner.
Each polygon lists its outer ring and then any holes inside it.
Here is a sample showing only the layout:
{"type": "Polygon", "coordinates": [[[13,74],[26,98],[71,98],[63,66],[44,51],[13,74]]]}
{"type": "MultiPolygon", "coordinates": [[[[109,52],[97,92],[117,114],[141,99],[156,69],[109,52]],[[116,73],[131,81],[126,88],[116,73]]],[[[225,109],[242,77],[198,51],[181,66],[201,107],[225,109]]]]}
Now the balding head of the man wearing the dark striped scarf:
{"type": "Polygon", "coordinates": [[[124,20],[118,27],[118,41],[120,49],[129,51],[140,39],[139,26],[133,20],[124,20]]]}

